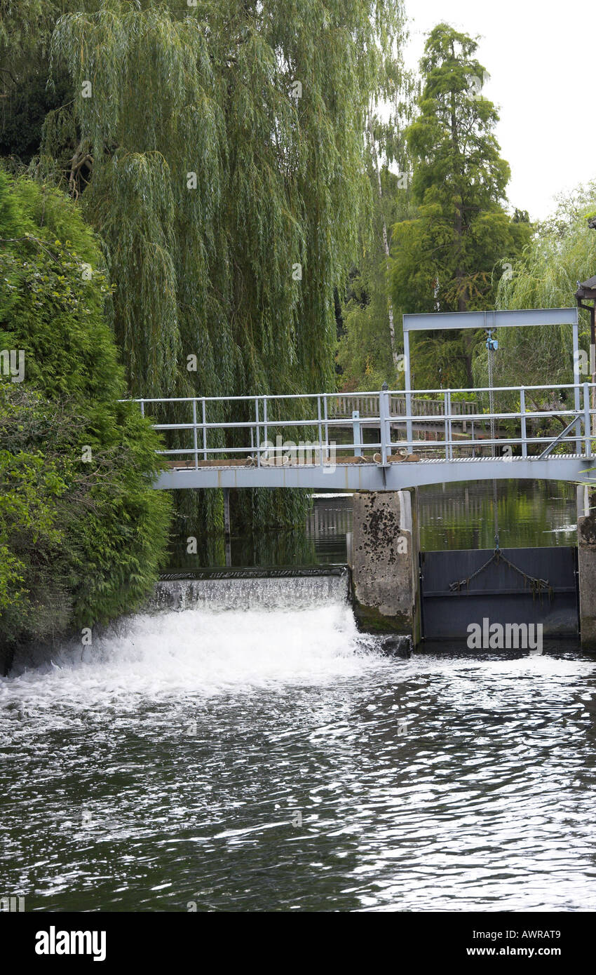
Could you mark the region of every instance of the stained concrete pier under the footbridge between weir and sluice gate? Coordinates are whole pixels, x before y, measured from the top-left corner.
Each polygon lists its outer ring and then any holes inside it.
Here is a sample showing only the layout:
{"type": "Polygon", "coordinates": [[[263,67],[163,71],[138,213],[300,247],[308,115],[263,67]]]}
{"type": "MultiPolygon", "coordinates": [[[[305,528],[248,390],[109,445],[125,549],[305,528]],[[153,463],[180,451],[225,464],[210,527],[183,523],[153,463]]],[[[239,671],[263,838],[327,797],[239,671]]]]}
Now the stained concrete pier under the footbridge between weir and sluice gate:
{"type": "Polygon", "coordinates": [[[354,612],[363,630],[420,643],[418,503],[415,490],[354,494],[354,612]]]}

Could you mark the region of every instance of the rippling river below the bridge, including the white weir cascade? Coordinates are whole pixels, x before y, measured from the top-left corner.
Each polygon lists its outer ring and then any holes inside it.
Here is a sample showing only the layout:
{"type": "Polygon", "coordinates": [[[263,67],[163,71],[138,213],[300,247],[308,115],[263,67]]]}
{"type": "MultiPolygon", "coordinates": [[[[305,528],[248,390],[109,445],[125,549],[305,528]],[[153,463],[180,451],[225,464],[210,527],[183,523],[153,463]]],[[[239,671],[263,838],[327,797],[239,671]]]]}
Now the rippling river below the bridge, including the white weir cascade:
{"type": "Polygon", "coordinates": [[[596,733],[577,704],[593,657],[390,658],[357,633],[345,577],[265,585],[195,586],[183,611],[17,660],[0,681],[2,896],[596,909],[596,733]]]}

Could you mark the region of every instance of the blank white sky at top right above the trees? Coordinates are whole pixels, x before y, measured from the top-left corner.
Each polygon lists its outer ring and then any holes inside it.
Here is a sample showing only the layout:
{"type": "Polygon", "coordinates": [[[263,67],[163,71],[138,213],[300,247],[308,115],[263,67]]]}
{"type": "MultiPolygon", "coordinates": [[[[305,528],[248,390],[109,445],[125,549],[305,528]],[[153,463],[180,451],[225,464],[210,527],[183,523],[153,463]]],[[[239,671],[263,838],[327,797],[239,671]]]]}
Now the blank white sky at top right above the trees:
{"type": "Polygon", "coordinates": [[[497,137],[511,167],[507,196],[533,219],[554,209],[553,195],[596,177],[594,14],[586,0],[405,0],[408,66],[417,67],[425,34],[441,21],[481,35],[477,59],[498,105],[497,137]]]}

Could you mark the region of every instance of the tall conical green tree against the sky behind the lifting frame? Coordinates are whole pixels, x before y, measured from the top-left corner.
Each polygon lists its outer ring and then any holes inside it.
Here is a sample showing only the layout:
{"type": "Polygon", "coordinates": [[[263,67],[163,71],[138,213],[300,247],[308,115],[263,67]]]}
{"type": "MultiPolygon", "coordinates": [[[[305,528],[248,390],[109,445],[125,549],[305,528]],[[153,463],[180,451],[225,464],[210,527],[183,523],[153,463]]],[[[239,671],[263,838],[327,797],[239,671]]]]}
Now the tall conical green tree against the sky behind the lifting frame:
{"type": "MultiPolygon", "coordinates": [[[[499,278],[530,235],[527,215],[503,209],[509,167],[482,95],[477,42],[445,23],[429,34],[421,60],[419,113],[406,137],[414,158],[412,218],[393,228],[392,287],[402,312],[491,307],[499,278]]],[[[471,386],[482,336],[425,332],[413,348],[419,388],[471,386]]]]}

